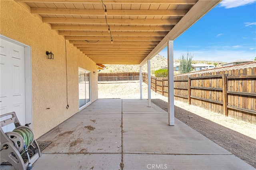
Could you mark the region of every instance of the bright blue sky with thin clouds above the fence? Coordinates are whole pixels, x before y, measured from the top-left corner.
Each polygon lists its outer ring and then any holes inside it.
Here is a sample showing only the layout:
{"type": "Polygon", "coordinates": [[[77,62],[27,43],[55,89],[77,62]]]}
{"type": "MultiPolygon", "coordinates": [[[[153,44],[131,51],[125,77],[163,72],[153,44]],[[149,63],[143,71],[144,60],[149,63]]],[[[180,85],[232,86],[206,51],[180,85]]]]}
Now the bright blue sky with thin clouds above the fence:
{"type": "MultiPolygon", "coordinates": [[[[222,0],[174,40],[174,59],[232,62],[256,57],[256,0],[222,0]]],[[[160,53],[167,58],[167,47],[160,53]]]]}

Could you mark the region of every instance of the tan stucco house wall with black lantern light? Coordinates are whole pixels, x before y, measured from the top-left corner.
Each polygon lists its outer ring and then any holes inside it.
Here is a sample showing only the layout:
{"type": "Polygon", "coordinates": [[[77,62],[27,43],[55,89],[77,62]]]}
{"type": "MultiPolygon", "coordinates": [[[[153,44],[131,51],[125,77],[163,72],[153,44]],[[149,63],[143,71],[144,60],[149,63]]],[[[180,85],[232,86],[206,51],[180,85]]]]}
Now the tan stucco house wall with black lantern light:
{"type": "MultiPolygon", "coordinates": [[[[66,41],[69,104],[66,109],[64,37],[12,0],[1,0],[0,8],[0,34],[31,47],[32,120],[38,138],[79,111],[78,67],[97,72],[97,66],[66,41]],[[52,51],[54,60],[47,59],[46,51],[52,51]]],[[[92,102],[98,99],[97,79],[97,74],[92,73],[92,102]]]]}

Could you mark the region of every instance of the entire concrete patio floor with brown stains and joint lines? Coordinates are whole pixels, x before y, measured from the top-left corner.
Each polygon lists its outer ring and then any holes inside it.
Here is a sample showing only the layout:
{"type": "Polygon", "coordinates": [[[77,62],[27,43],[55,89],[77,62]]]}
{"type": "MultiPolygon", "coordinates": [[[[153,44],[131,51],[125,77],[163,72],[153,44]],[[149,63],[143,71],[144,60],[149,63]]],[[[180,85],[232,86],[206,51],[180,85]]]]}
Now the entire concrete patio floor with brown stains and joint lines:
{"type": "Polygon", "coordinates": [[[98,99],[38,142],[35,170],[254,169],[147,100],[98,99]]]}

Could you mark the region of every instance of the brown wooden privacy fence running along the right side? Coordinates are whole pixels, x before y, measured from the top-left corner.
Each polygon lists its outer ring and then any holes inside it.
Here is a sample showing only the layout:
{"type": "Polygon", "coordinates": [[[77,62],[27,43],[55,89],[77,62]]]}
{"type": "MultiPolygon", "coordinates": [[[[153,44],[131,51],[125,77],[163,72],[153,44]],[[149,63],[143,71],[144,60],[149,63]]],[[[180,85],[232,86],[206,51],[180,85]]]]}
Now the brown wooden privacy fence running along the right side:
{"type": "MultiPolygon", "coordinates": [[[[168,80],[152,77],[151,89],[167,97],[168,80]]],[[[176,75],[174,99],[256,125],[256,67],[176,75]]]]}

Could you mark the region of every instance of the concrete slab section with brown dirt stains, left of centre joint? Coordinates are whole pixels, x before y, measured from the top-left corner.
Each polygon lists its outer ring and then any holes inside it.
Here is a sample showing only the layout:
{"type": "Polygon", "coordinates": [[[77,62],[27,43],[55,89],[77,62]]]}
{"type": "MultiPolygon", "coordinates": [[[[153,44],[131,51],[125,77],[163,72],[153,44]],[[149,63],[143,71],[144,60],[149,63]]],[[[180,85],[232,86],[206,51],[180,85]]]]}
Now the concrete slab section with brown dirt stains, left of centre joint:
{"type": "Polygon", "coordinates": [[[43,153],[121,153],[121,114],[76,114],[40,137],[43,153]]]}

